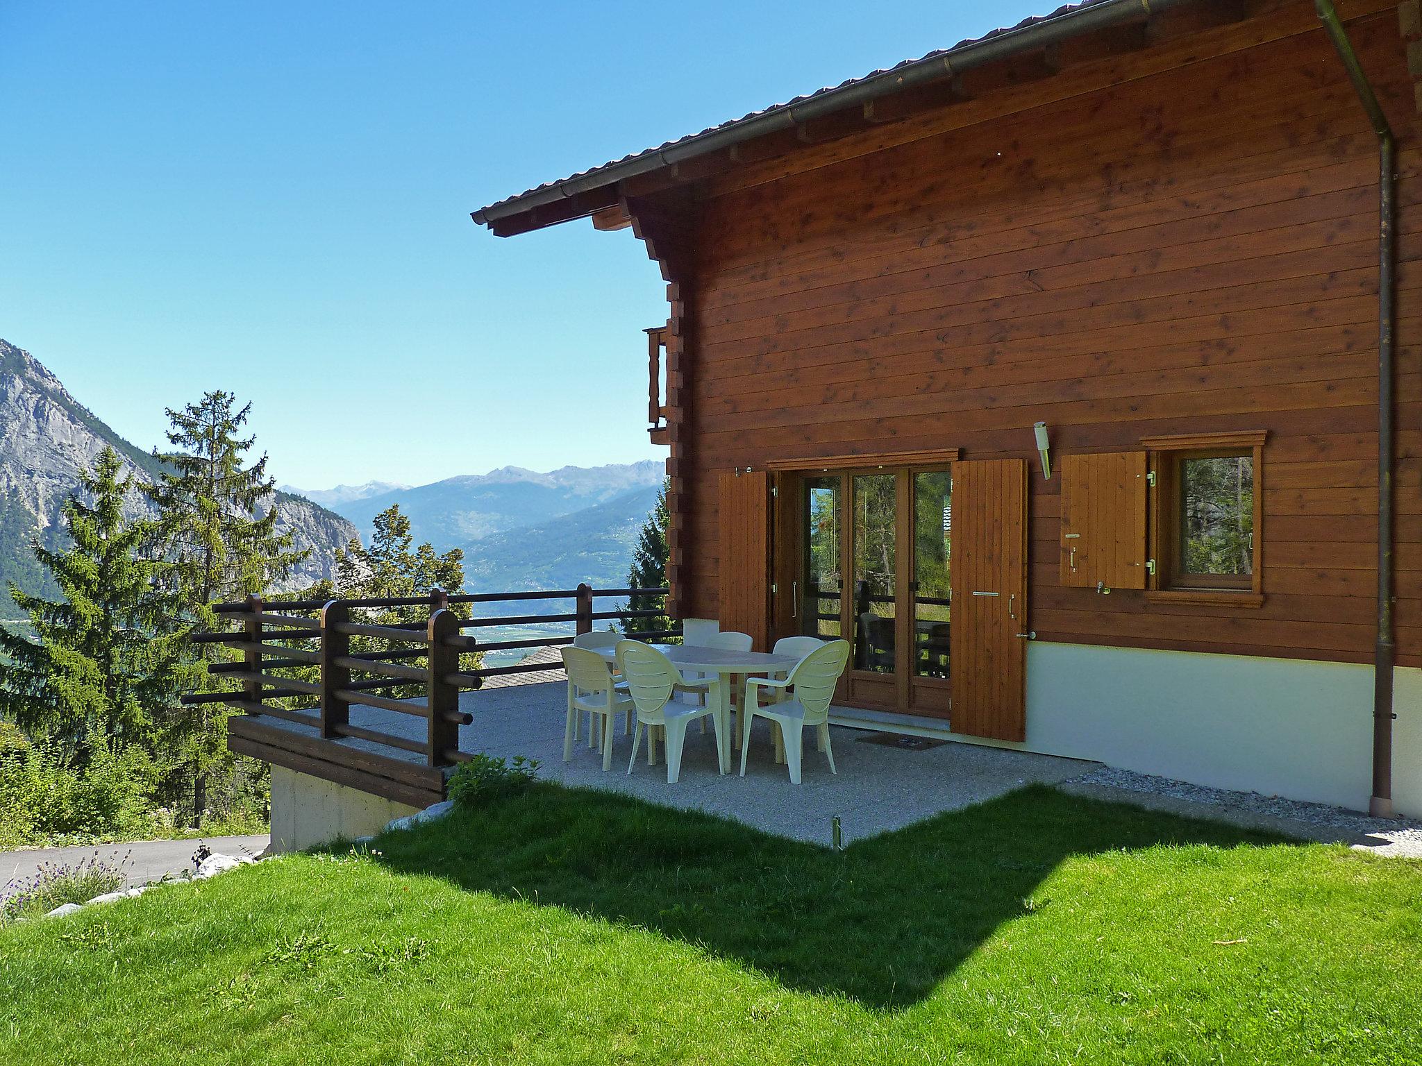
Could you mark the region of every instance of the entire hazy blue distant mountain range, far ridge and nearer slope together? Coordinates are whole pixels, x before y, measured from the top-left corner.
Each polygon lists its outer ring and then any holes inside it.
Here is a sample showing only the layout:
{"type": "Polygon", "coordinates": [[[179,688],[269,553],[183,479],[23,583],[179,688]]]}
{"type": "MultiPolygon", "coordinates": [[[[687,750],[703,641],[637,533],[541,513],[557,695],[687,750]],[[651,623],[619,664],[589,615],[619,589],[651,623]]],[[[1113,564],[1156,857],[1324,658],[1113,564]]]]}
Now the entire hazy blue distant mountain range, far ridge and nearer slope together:
{"type": "MultiPolygon", "coordinates": [[[[472,593],[572,588],[579,581],[617,588],[627,580],[663,472],[656,459],[546,473],[503,466],[344,500],[328,493],[350,492],[348,486],[304,495],[330,500],[365,537],[375,515],[398,503],[415,543],[428,540],[439,551],[464,549],[465,587],[472,593]]],[[[520,613],[566,610],[552,604],[520,613]]]]}

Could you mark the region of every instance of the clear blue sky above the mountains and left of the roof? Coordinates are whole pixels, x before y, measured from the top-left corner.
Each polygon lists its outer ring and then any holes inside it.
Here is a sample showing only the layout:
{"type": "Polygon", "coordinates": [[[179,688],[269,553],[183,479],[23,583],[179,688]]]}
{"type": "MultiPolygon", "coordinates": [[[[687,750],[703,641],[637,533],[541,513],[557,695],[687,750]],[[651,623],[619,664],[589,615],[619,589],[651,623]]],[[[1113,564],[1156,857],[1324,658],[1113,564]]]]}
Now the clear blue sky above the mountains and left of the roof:
{"type": "Polygon", "coordinates": [[[630,230],[469,212],[1052,4],[0,4],[0,337],[142,446],[276,476],[657,458],[630,230]]]}

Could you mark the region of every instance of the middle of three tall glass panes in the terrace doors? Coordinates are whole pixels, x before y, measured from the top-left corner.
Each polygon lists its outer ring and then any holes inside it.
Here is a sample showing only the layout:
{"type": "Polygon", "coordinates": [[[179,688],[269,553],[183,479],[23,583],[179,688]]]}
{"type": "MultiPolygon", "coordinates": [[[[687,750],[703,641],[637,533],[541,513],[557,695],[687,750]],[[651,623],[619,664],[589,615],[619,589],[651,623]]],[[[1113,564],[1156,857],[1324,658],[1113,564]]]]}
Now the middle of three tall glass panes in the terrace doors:
{"type": "Polygon", "coordinates": [[[867,473],[853,480],[855,667],[893,674],[897,478],[867,473]]]}

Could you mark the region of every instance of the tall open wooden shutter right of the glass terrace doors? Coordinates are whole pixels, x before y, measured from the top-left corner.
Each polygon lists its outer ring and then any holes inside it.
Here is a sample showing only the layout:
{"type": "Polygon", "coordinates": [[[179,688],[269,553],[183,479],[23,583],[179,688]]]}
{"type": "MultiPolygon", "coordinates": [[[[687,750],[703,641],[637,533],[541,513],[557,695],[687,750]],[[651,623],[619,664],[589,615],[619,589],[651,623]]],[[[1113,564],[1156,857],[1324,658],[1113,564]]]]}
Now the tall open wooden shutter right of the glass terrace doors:
{"type": "Polygon", "coordinates": [[[948,678],[956,733],[1027,739],[1027,463],[953,463],[953,624],[948,678]]]}

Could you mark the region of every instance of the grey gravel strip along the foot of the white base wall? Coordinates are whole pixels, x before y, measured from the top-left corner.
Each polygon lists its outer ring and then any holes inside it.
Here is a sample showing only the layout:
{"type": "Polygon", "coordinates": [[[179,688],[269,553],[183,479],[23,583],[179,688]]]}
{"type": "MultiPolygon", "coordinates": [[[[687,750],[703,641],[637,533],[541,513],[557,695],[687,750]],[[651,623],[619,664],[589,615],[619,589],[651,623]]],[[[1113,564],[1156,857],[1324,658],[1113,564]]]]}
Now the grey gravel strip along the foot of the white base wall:
{"type": "MultiPolygon", "coordinates": [[[[1357,810],[1331,807],[1327,803],[1303,803],[1281,796],[1261,796],[1257,792],[1230,792],[1190,785],[1170,777],[1155,777],[1149,773],[1119,770],[1101,766],[1089,773],[1065,782],[1065,786],[1084,786],[1084,790],[1115,789],[1126,793],[1145,793],[1165,797],[1176,803],[1204,807],[1200,817],[1216,817],[1226,822],[1250,824],[1278,823],[1288,831],[1297,827],[1298,836],[1310,840],[1341,840],[1379,854],[1422,856],[1422,822],[1415,819],[1375,819],[1357,810]]],[[[1123,796],[1129,802],[1129,796],[1123,796]]]]}

